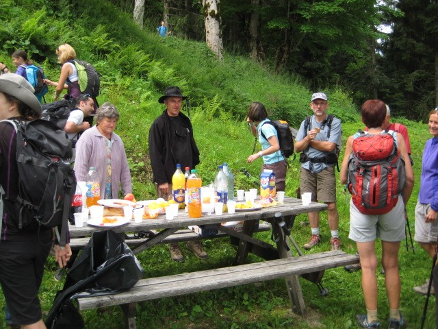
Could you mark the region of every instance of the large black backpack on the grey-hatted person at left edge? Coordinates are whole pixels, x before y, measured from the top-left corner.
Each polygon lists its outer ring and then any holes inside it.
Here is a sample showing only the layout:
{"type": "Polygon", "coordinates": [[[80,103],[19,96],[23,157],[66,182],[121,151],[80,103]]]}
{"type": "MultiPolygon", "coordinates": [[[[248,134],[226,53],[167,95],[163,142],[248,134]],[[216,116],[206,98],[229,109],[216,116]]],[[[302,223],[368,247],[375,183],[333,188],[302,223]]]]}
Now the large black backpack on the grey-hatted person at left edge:
{"type": "Polygon", "coordinates": [[[18,196],[3,201],[14,202],[18,228],[60,228],[58,240],[65,245],[68,212],[76,190],[70,140],[49,121],[0,122],[14,125],[18,166],[18,196]]]}

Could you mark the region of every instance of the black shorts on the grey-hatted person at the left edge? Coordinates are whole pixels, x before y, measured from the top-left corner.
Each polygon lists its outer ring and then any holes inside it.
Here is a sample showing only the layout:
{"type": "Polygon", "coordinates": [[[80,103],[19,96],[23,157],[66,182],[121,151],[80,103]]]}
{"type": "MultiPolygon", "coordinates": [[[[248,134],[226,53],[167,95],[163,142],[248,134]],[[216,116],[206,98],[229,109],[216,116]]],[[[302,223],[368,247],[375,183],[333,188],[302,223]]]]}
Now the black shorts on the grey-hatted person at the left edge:
{"type": "Polygon", "coordinates": [[[42,319],[38,290],[51,244],[38,241],[0,242],[0,284],[12,323],[34,324],[42,319]]]}

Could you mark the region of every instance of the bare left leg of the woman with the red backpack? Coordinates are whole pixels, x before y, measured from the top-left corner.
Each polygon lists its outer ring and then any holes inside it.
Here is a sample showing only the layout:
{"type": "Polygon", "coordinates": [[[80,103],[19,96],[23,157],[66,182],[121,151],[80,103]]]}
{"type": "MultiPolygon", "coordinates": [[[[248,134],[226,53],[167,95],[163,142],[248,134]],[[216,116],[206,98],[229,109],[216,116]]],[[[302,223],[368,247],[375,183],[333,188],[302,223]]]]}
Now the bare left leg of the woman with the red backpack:
{"type": "Polygon", "coordinates": [[[362,265],[362,291],[363,300],[367,310],[377,309],[377,256],[375,241],[357,242],[357,250],[362,265]]]}

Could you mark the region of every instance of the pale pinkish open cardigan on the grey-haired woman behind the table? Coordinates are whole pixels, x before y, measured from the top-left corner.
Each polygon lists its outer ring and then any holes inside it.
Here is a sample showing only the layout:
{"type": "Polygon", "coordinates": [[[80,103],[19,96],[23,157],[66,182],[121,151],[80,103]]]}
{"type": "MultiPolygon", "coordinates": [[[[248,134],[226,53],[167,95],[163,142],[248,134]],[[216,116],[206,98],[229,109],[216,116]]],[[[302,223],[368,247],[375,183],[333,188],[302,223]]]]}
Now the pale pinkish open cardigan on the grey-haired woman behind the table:
{"type": "MultiPolygon", "coordinates": [[[[126,158],[123,141],[114,132],[111,135],[111,187],[112,197],[118,198],[120,185],[123,195],[132,193],[131,174],[126,158]]],[[[91,127],[83,132],[76,143],[75,175],[78,181],[86,181],[88,169],[94,167],[99,175],[101,184],[101,198],[105,196],[105,176],[107,173],[107,152],[105,138],[97,130],[91,127]]]]}

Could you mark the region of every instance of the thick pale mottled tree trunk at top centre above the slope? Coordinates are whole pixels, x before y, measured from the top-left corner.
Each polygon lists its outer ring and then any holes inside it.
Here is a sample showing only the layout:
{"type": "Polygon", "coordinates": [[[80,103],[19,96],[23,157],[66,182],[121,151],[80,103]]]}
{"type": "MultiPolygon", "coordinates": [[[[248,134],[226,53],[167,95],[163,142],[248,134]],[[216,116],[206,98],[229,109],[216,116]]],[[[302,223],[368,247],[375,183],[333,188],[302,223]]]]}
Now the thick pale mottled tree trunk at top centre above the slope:
{"type": "Polygon", "coordinates": [[[224,46],[222,44],[221,18],[219,10],[220,0],[203,0],[205,21],[205,42],[216,53],[220,60],[223,59],[224,46]]]}

